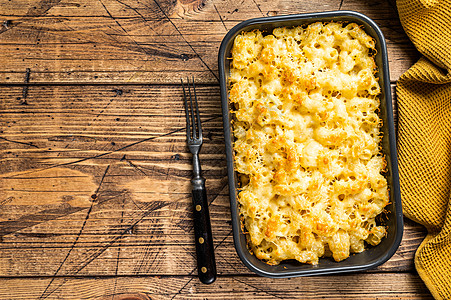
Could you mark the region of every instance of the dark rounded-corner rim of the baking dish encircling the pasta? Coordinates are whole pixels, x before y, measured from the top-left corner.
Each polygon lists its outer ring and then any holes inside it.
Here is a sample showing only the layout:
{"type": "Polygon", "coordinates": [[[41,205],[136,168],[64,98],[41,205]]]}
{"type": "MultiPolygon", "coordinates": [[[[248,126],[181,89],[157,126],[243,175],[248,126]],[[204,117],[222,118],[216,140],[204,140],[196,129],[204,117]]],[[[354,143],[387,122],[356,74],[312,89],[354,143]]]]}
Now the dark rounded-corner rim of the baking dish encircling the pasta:
{"type": "MultiPolygon", "coordinates": [[[[324,20],[325,21],[325,20],[324,20]]],[[[280,25],[283,26],[283,25],[280,25]]],[[[287,25],[293,26],[293,25],[287,25]]],[[[279,27],[279,26],[274,26],[279,27]]],[[[249,29],[248,29],[249,30],[249,29]]],[[[369,34],[369,33],[368,33],[369,34]]],[[[371,34],[370,34],[371,35],[371,34]]],[[[373,38],[376,38],[374,35],[371,35],[373,38]]],[[[393,120],[393,107],[392,107],[392,95],[390,89],[390,74],[388,67],[388,56],[386,49],[385,38],[382,34],[382,31],[377,26],[377,24],[371,20],[369,17],[364,14],[355,12],[355,11],[328,11],[328,12],[318,12],[318,13],[305,13],[305,14],[293,14],[293,15],[281,15],[275,17],[263,17],[263,18],[254,18],[243,21],[236,26],[234,26],[229,32],[225,35],[222,40],[221,46],[219,48],[218,54],[218,67],[219,67],[219,81],[220,81],[220,93],[221,93],[221,104],[222,104],[222,117],[223,117],[223,126],[224,126],[224,140],[226,146],[226,160],[227,160],[227,175],[229,182],[229,196],[230,196],[230,209],[232,214],[232,230],[233,230],[233,239],[235,249],[237,251],[238,256],[241,261],[248,267],[251,271],[255,272],[258,275],[270,277],[270,278],[287,278],[287,277],[296,277],[296,276],[306,276],[306,275],[319,275],[319,274],[332,274],[332,273],[343,273],[343,272],[355,272],[355,271],[363,271],[371,268],[375,268],[387,260],[389,260],[393,254],[398,249],[403,235],[403,214],[402,214],[402,206],[401,206],[401,192],[399,187],[399,172],[398,172],[398,162],[397,162],[397,152],[396,152],[396,134],[394,130],[394,120],[393,120]],[[310,269],[303,269],[298,271],[287,271],[287,272],[274,272],[264,270],[262,268],[254,265],[247,257],[244,251],[249,251],[247,247],[243,249],[240,236],[244,234],[241,232],[241,220],[239,218],[238,212],[238,201],[236,198],[236,184],[235,184],[235,168],[233,161],[233,141],[231,137],[231,123],[229,118],[229,99],[228,99],[228,84],[226,82],[227,76],[225,74],[226,63],[228,62],[228,58],[226,55],[227,47],[231,42],[233,42],[233,38],[241,31],[246,31],[246,28],[252,25],[265,25],[277,22],[289,22],[289,21],[299,21],[299,25],[305,23],[312,23],[315,21],[321,21],[316,19],[328,19],[329,21],[334,21],[334,19],[338,18],[350,18],[349,20],[345,20],[348,22],[360,21],[364,25],[372,28],[374,33],[377,36],[377,42],[380,43],[381,55],[382,55],[382,65],[378,65],[378,72],[380,76],[383,76],[383,85],[384,85],[384,95],[380,97],[381,103],[385,100],[385,115],[386,119],[384,122],[387,122],[388,127],[388,148],[389,148],[389,160],[391,169],[391,181],[392,185],[390,186],[390,192],[393,193],[392,199],[394,199],[393,207],[395,208],[395,212],[393,212],[393,217],[395,218],[395,237],[391,247],[382,255],[379,259],[374,262],[361,264],[361,265],[348,265],[336,268],[318,268],[319,265],[312,266],[310,269]],[[382,74],[381,74],[382,73],[382,74]],[[239,223],[238,223],[238,222],[239,223]]],[[[387,132],[384,132],[387,134],[387,132]]],[[[388,155],[388,154],[386,154],[388,155]]],[[[246,239],[246,237],[244,236],[246,239]]],[[[375,247],[378,247],[375,246],[375,247]]],[[[375,248],[374,247],[374,248],[375,248]]],[[[368,251],[368,250],[366,250],[368,251]]],[[[358,254],[357,254],[358,255],[358,254]]],[[[319,262],[321,264],[321,261],[319,262]]],[[[340,264],[340,263],[338,263],[340,264]]],[[[269,265],[268,265],[269,266],[269,265]]],[[[270,266],[272,267],[272,266],[270,266]]]]}

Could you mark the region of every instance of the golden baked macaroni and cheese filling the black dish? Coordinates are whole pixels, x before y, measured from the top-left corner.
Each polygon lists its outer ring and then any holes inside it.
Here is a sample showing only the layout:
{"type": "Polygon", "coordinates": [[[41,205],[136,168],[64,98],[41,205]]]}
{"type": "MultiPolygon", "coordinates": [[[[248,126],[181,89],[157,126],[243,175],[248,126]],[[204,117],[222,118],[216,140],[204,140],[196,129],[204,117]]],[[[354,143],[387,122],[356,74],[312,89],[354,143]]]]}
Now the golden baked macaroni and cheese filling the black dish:
{"type": "Polygon", "coordinates": [[[238,201],[250,250],[275,265],[377,245],[389,202],[375,41],[357,24],[236,36],[230,65],[238,201]]]}

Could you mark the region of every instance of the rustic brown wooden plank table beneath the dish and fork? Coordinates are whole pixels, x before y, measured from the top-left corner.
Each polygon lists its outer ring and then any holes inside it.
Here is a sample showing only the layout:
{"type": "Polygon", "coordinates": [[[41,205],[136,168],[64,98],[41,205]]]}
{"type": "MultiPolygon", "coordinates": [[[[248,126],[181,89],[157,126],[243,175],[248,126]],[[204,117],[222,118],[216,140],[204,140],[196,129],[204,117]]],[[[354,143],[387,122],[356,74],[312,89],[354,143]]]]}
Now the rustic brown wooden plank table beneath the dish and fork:
{"type": "Polygon", "coordinates": [[[361,273],[262,278],[233,246],[220,42],[248,18],[337,9],[382,28],[395,87],[419,55],[386,0],[1,0],[0,299],[431,298],[413,265],[425,231],[409,220],[393,258],[361,273]],[[212,285],[196,278],[186,76],[204,121],[212,285]]]}

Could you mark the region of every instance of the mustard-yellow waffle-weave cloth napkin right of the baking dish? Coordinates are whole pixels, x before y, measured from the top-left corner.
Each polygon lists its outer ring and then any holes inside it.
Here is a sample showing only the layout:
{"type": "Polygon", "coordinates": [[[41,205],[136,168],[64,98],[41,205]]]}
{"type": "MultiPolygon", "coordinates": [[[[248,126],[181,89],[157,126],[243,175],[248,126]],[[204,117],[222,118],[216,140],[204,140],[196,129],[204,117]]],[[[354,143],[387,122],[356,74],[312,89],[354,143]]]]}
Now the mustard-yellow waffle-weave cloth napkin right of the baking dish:
{"type": "Polygon", "coordinates": [[[428,235],[415,267],[436,299],[451,299],[451,0],[397,0],[423,57],[397,84],[404,214],[428,235]]]}

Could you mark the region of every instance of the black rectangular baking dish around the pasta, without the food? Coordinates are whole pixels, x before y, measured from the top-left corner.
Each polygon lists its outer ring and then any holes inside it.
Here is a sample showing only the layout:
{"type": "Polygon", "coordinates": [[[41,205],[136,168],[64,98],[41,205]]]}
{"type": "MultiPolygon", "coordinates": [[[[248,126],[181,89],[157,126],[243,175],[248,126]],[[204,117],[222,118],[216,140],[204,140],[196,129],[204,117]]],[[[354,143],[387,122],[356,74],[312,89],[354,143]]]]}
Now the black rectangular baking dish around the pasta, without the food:
{"type": "Polygon", "coordinates": [[[219,49],[219,76],[221,85],[233,237],[236,251],[243,263],[250,270],[262,276],[293,277],[367,270],[386,262],[390,257],[392,257],[401,242],[403,233],[403,217],[401,208],[401,194],[399,189],[396,139],[393,123],[387,50],[385,39],[379,27],[365,15],[352,11],[309,13],[247,20],[236,25],[224,37],[219,49]],[[301,264],[297,261],[289,260],[284,261],[279,265],[271,266],[260,261],[249,252],[246,237],[241,230],[241,221],[237,202],[237,178],[233,162],[233,136],[231,133],[231,118],[228,101],[228,76],[231,48],[235,36],[243,31],[259,29],[264,32],[271,33],[272,29],[276,27],[294,27],[318,21],[354,22],[362,25],[364,30],[376,40],[377,54],[375,56],[375,61],[378,67],[377,76],[379,77],[379,83],[381,86],[380,117],[383,120],[382,131],[384,133],[382,148],[388,163],[387,180],[390,189],[390,204],[386,208],[389,211],[388,221],[386,223],[388,234],[379,245],[370,247],[362,253],[351,255],[348,259],[339,263],[324,258],[320,259],[318,265],[301,264]]]}

